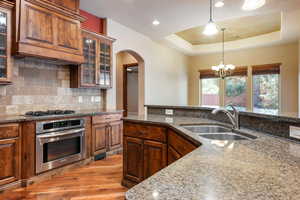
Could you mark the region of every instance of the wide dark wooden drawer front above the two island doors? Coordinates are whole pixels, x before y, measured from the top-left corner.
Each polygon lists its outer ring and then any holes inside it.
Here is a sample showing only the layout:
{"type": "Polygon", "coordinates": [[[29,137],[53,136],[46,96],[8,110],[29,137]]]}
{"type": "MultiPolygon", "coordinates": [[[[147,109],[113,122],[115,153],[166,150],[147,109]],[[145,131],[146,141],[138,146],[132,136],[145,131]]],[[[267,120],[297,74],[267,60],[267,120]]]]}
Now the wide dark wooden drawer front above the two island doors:
{"type": "Polygon", "coordinates": [[[124,135],[167,142],[167,129],[159,126],[124,123],[124,135]]]}

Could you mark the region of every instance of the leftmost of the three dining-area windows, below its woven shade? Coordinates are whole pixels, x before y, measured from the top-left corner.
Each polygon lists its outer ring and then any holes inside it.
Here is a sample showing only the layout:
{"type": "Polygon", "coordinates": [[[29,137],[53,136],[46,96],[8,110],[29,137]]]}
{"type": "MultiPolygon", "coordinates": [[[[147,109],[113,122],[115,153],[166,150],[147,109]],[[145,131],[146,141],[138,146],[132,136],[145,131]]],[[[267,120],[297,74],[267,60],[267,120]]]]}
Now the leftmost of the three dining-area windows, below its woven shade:
{"type": "Polygon", "coordinates": [[[219,106],[219,78],[201,79],[201,102],[204,106],[219,106]]]}

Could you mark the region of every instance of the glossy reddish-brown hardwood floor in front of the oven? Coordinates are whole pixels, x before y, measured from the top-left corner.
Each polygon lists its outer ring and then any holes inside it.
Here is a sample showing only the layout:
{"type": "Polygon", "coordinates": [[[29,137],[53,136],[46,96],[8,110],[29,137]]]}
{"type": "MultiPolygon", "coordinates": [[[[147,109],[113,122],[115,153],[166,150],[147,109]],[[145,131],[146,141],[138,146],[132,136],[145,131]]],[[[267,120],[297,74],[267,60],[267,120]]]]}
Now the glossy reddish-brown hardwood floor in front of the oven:
{"type": "Polygon", "coordinates": [[[8,191],[0,200],[119,200],[122,156],[114,155],[27,188],[8,191]]]}

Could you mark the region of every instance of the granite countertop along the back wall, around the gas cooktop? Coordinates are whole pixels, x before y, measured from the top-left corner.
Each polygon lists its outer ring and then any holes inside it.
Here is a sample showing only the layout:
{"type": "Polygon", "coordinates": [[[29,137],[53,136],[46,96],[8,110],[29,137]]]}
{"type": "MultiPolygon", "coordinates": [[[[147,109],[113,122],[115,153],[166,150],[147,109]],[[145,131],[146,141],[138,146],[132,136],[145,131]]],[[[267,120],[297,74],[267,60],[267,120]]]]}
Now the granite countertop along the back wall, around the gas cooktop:
{"type": "Polygon", "coordinates": [[[66,117],[87,117],[94,115],[103,115],[110,113],[121,113],[123,110],[114,110],[114,109],[92,109],[92,110],[75,110],[74,114],[68,115],[49,115],[49,116],[39,116],[31,117],[24,115],[0,115],[0,124],[6,123],[20,123],[25,121],[40,121],[40,120],[49,120],[49,119],[61,119],[66,117]]]}

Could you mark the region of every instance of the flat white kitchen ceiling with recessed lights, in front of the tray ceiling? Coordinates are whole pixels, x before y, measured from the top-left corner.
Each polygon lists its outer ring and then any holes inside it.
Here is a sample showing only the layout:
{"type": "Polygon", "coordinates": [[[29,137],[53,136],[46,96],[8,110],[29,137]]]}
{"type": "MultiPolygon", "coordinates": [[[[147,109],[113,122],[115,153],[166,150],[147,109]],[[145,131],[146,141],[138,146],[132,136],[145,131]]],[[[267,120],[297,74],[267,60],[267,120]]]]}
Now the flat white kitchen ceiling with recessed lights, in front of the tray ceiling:
{"type": "MultiPolygon", "coordinates": [[[[215,20],[300,9],[299,0],[267,0],[263,8],[253,12],[242,11],[242,4],[243,0],[225,0],[223,8],[215,9],[215,20]]],[[[81,0],[81,8],[158,40],[204,25],[209,16],[209,0],[81,0]],[[154,19],[161,24],[154,27],[154,19]]]]}

